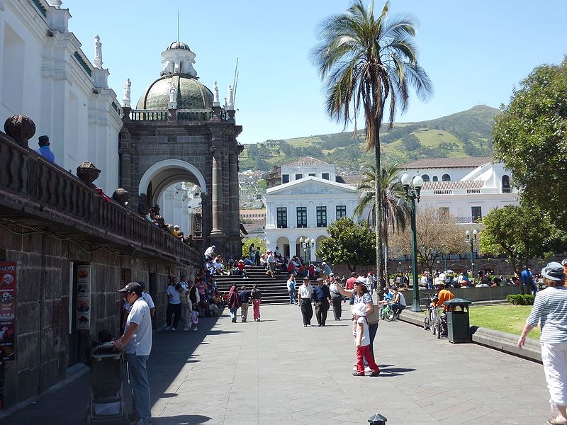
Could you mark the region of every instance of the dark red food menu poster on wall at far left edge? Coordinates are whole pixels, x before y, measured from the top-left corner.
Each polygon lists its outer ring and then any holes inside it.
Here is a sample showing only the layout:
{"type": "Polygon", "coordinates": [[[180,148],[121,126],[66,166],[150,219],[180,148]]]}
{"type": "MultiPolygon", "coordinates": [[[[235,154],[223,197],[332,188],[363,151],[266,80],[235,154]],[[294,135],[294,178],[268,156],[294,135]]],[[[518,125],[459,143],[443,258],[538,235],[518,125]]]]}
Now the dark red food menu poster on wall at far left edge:
{"type": "Polygon", "coordinates": [[[0,361],[16,358],[16,262],[0,261],[0,361]]]}

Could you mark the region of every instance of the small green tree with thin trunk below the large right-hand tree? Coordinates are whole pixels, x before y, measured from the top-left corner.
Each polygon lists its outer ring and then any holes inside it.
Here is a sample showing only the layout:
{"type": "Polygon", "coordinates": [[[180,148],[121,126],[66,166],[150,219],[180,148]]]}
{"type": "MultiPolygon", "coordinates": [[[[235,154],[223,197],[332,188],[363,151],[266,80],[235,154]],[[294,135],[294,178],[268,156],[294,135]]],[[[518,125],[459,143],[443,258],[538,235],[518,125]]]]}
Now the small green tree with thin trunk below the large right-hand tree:
{"type": "MultiPolygon", "coordinates": [[[[565,239],[563,232],[552,224],[550,218],[532,206],[506,205],[490,210],[483,219],[481,252],[506,254],[507,261],[518,276],[522,265],[530,259],[542,258],[548,251],[561,249],[565,239]]],[[[524,285],[520,279],[522,294],[524,285]]]]}

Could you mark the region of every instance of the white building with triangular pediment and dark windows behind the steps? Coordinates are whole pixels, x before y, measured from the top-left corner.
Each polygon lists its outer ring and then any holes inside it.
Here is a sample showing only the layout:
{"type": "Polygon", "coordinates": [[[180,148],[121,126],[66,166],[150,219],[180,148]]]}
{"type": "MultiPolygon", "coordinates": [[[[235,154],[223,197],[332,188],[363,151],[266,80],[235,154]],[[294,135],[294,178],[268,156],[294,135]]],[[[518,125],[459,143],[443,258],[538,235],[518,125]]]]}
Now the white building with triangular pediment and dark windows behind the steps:
{"type": "Polygon", "coordinates": [[[357,188],[335,181],[335,165],[305,157],[281,166],[282,183],[266,191],[266,245],[279,246],[284,256],[307,256],[329,236],[327,226],[341,217],[353,217],[357,188]],[[300,240],[309,238],[309,246],[300,240]]]}

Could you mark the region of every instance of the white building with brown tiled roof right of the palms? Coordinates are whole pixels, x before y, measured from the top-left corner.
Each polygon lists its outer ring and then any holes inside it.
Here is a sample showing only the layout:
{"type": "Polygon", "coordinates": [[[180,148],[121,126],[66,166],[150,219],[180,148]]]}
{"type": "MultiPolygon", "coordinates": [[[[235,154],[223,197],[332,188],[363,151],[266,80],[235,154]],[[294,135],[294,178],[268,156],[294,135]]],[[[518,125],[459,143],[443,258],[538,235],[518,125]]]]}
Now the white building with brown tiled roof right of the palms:
{"type": "Polygon", "coordinates": [[[422,176],[418,208],[449,212],[459,223],[478,222],[495,207],[517,203],[510,171],[493,157],[418,159],[404,168],[422,176]]]}

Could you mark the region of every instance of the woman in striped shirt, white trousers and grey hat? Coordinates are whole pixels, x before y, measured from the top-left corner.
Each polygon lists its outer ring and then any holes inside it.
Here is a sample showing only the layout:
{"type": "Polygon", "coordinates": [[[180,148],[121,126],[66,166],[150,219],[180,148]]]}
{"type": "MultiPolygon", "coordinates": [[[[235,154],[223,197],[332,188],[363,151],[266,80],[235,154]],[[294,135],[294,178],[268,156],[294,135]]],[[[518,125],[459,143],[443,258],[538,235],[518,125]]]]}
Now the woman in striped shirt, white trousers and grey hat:
{"type": "Polygon", "coordinates": [[[567,287],[563,286],[565,273],[561,264],[548,263],[541,269],[547,288],[538,291],[534,307],[526,320],[518,348],[526,336],[541,322],[541,359],[549,388],[551,409],[558,414],[547,421],[552,425],[567,425],[567,287]]]}

